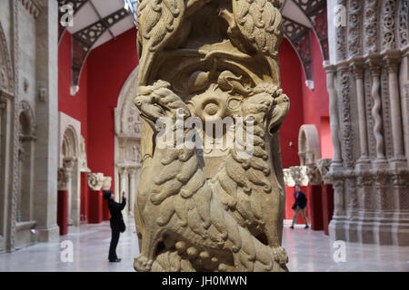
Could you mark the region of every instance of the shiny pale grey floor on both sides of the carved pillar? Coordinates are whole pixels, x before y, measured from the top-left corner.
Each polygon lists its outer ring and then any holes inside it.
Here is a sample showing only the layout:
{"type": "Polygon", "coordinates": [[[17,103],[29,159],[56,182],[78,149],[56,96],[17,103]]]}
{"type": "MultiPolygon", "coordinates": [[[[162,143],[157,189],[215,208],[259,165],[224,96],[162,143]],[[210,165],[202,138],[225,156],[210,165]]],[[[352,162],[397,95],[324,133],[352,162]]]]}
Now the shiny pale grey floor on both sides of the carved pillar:
{"type": "MultiPolygon", "coordinates": [[[[107,222],[70,227],[69,231],[60,241],[40,243],[11,254],[1,254],[0,271],[134,271],[133,259],[138,254],[138,244],[132,218],[117,247],[117,255],[122,258],[120,263],[107,261],[110,242],[107,222]],[[63,262],[65,248],[61,242],[65,240],[72,242],[73,262],[63,262]]],[[[322,231],[305,230],[302,226],[292,230],[288,225],[284,228],[283,244],[290,258],[290,271],[409,272],[409,247],[345,244],[344,262],[335,262],[334,252],[339,247],[334,247],[334,242],[324,236],[322,231]]]]}

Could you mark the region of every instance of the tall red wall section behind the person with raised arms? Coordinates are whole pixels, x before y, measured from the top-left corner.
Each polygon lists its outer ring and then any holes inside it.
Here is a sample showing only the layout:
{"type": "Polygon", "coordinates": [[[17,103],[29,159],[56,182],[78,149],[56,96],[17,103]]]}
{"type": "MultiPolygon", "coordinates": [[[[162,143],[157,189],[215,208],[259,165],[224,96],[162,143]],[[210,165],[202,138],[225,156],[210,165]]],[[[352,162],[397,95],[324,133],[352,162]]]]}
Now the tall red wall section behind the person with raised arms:
{"type": "Polygon", "coordinates": [[[118,95],[138,64],[136,31],[131,29],[95,48],[88,57],[88,167],[113,177],[115,189],[115,119],[118,95]]]}

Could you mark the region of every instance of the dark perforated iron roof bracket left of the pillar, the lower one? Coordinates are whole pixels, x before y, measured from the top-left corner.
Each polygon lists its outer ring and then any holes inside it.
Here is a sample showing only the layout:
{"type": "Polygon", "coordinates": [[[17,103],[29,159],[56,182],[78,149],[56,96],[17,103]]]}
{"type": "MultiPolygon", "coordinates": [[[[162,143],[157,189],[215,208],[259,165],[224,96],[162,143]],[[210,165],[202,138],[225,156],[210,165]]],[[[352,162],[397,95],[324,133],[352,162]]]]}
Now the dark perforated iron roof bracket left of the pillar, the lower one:
{"type": "Polygon", "coordinates": [[[99,37],[109,30],[112,26],[127,17],[129,13],[125,8],[121,8],[115,11],[113,14],[109,14],[106,17],[100,19],[94,24],[90,24],[80,31],[73,34],[72,41],[72,85],[75,91],[78,90],[79,79],[84,67],[85,60],[88,54],[91,52],[92,47],[97,42],[99,37]]]}

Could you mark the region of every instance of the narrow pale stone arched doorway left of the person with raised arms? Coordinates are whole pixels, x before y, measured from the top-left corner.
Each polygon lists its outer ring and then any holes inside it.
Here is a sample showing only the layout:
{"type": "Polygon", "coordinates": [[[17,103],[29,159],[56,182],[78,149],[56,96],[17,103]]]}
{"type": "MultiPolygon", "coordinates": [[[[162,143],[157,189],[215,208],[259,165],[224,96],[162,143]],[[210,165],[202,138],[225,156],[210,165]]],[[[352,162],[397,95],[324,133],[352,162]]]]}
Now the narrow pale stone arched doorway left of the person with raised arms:
{"type": "Polygon", "coordinates": [[[60,112],[58,190],[68,192],[68,225],[80,225],[81,123],[60,112]]]}

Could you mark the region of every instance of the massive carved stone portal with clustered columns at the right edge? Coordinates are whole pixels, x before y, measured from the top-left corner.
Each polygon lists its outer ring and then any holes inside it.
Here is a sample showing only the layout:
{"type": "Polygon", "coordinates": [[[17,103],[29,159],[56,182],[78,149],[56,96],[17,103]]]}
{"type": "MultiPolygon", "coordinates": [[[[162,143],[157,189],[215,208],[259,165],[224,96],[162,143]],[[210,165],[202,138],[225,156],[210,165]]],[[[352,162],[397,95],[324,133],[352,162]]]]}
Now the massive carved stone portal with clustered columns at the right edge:
{"type": "Polygon", "coordinates": [[[334,187],[330,236],[409,246],[408,1],[337,4],[348,7],[348,25],[330,34],[336,59],[326,66],[334,160],[322,175],[334,187]]]}

